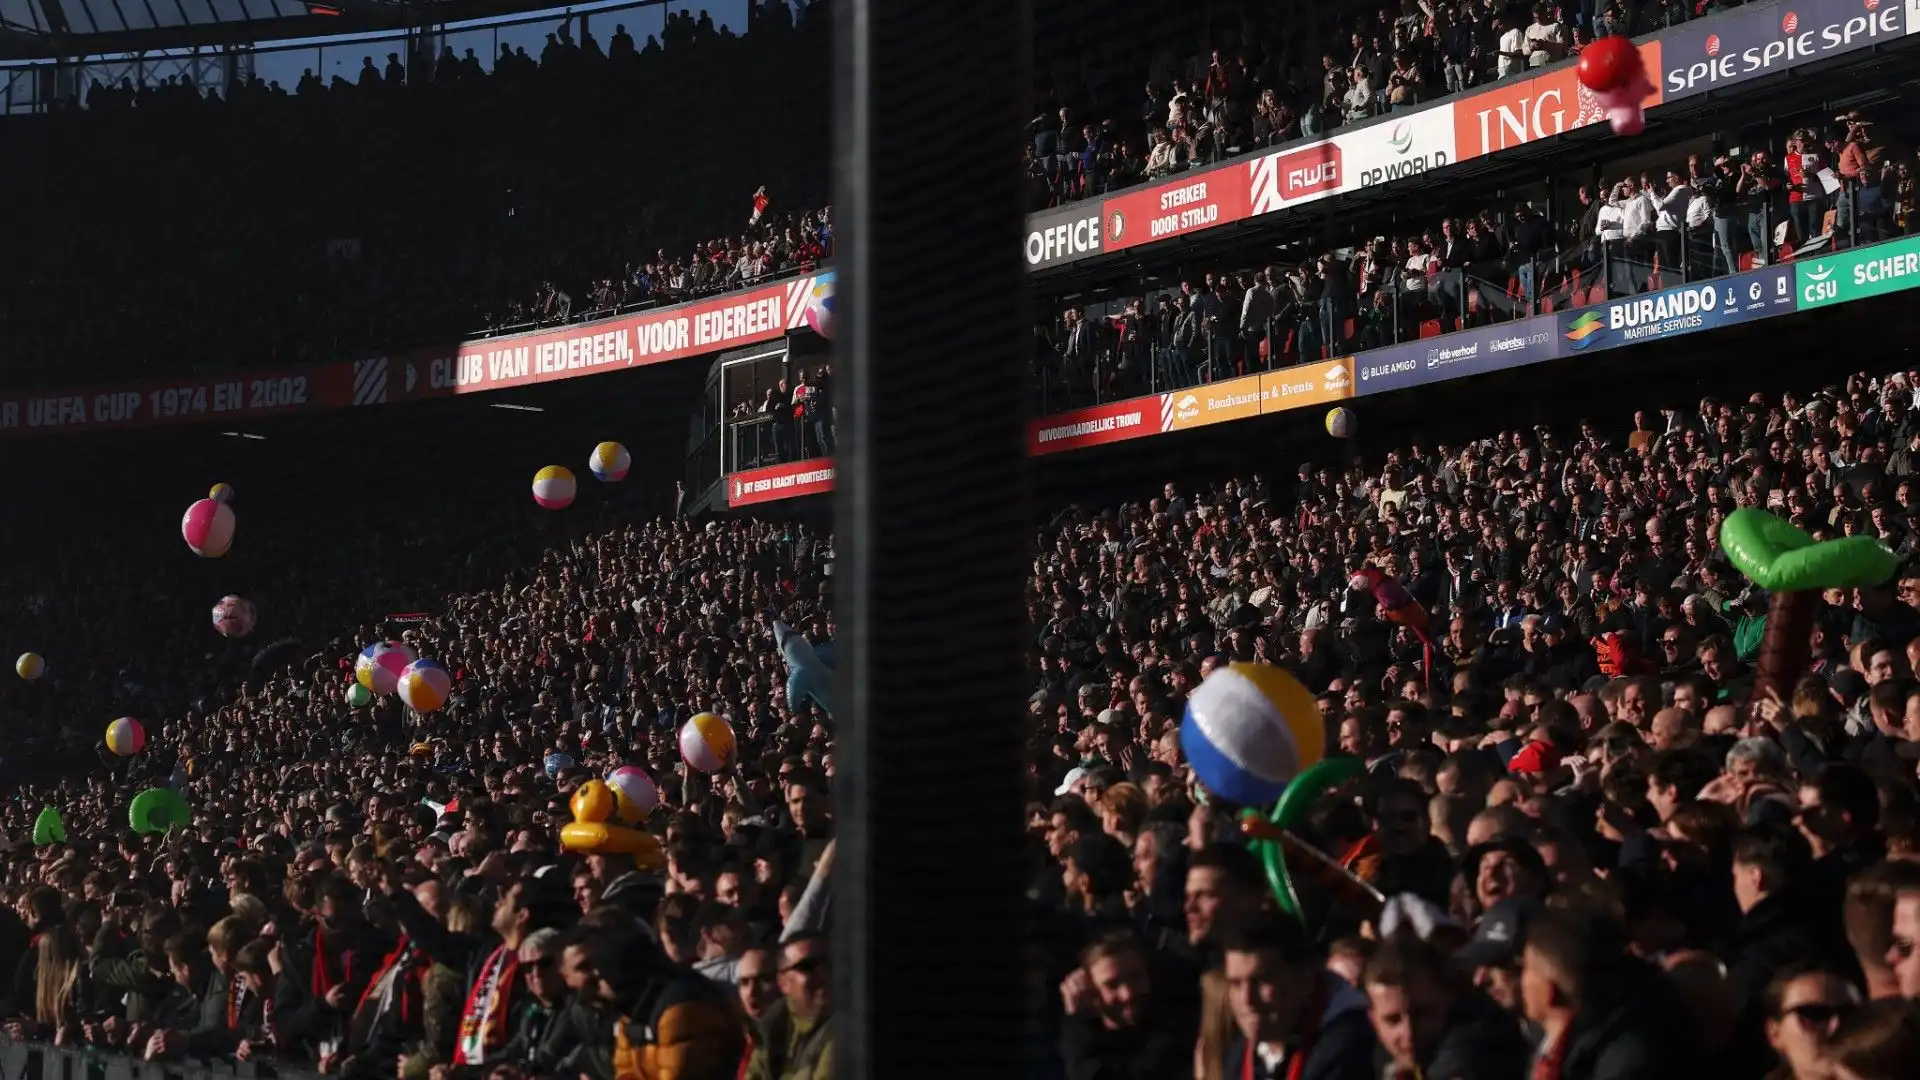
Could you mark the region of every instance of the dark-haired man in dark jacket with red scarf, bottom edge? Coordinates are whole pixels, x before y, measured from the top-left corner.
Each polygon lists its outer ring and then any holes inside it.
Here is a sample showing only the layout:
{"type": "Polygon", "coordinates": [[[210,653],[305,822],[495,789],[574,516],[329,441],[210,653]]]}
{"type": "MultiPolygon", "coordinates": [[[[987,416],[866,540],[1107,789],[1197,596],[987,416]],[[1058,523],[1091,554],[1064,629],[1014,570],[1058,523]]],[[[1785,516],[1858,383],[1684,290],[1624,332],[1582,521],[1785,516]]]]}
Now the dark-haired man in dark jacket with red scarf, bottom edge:
{"type": "Polygon", "coordinates": [[[1306,932],[1265,919],[1225,951],[1229,1080],[1377,1080],[1367,997],[1325,970],[1306,932]]]}

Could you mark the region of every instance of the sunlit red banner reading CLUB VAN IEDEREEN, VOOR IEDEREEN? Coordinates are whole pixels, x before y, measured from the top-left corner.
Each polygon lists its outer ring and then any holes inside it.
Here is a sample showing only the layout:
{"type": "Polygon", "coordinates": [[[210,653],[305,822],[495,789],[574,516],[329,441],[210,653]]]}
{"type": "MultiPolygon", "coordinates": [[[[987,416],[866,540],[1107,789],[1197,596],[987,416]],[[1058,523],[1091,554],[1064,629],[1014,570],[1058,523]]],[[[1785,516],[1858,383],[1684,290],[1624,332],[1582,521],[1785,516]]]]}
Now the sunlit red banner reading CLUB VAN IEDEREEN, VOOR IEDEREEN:
{"type": "Polygon", "coordinates": [[[806,325],[814,286],[831,279],[828,271],[601,323],[419,350],[392,361],[382,400],[482,394],[778,340],[806,325]]]}

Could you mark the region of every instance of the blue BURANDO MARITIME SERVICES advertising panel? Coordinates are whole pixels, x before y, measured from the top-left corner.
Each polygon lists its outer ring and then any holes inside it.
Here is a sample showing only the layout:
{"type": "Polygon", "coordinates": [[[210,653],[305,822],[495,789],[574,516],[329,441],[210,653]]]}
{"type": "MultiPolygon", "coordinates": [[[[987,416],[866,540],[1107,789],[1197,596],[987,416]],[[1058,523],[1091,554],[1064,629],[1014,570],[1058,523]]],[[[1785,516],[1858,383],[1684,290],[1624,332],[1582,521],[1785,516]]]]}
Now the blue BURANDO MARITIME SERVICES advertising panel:
{"type": "Polygon", "coordinates": [[[1561,356],[1678,338],[1793,309],[1793,267],[1764,267],[1567,311],[1557,317],[1561,356]]]}

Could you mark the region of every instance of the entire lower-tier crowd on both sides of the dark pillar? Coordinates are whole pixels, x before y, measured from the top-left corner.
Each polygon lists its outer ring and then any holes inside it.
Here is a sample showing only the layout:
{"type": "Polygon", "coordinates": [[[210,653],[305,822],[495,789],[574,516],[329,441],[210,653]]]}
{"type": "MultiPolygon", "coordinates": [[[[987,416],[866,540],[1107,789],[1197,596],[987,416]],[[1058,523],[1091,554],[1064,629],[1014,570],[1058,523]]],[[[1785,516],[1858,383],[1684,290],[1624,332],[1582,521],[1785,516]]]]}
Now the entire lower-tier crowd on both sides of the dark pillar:
{"type": "MultiPolygon", "coordinates": [[[[1027,657],[1046,1070],[1912,1076],[1914,382],[1409,444],[1048,521],[1027,657]],[[1778,700],[1749,700],[1768,598],[1715,544],[1736,505],[1908,559],[1822,596],[1778,700]],[[1434,615],[1430,653],[1350,592],[1361,567],[1434,615]],[[1302,836],[1384,905],[1308,886],[1300,930],[1231,807],[1198,798],[1175,728],[1225,661],[1296,671],[1363,759],[1302,836]]],[[[190,667],[152,638],[117,678],[44,686],[38,713],[17,703],[40,684],[10,688],[13,740],[52,749],[69,705],[108,694],[152,744],[58,784],[42,749],[8,748],[8,1034],[355,1076],[829,1076],[835,721],[787,700],[774,621],[831,640],[831,563],[829,536],[755,519],[482,548],[405,630],[455,676],[430,719],[346,703],[357,644],[390,632],[367,615],[392,607],[380,588],[317,590],[330,644],[244,678],[150,678],[190,667]],[[710,778],[674,740],[701,709],[741,740],[710,778]],[[557,847],[568,792],[628,763],[660,782],[662,872],[557,847]],[[190,826],[121,826],[150,784],[190,826]],[[65,842],[29,842],[42,805],[65,842]]]]}

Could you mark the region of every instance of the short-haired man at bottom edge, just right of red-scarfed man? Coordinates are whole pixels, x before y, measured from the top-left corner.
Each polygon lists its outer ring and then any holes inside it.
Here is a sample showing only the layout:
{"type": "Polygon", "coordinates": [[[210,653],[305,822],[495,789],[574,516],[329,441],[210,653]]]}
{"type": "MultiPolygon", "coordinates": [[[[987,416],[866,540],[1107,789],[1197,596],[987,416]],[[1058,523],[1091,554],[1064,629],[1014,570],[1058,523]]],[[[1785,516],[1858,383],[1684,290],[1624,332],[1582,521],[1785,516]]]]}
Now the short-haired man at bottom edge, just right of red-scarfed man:
{"type": "Polygon", "coordinates": [[[1388,934],[1359,980],[1379,1040],[1377,1074],[1427,1080],[1524,1080],[1528,1042],[1494,999],[1465,986],[1448,955],[1388,934]]]}

